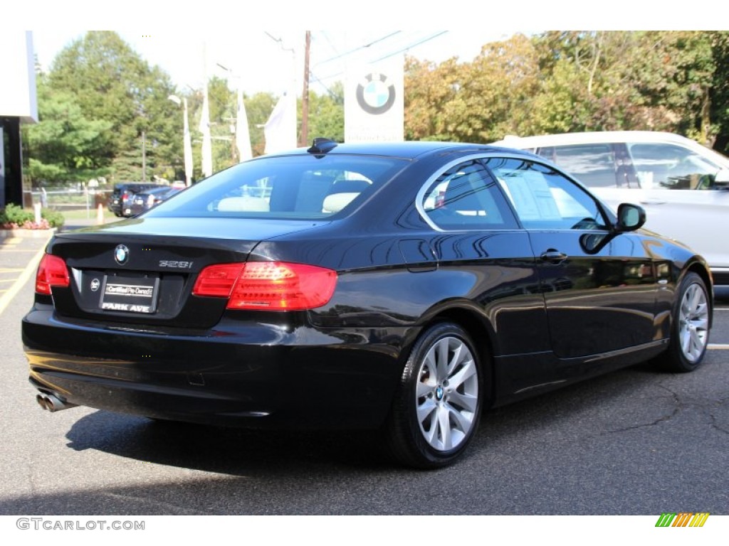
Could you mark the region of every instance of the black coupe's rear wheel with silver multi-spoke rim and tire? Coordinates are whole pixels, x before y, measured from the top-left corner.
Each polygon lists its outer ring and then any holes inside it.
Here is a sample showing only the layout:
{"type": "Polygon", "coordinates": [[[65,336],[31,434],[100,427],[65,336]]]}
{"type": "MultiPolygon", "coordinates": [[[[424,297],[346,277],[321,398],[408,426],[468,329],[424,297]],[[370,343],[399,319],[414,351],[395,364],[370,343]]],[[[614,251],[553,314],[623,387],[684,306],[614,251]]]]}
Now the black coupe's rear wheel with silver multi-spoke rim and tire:
{"type": "Polygon", "coordinates": [[[416,468],[451,464],[480,419],[483,366],[459,325],[438,323],[416,341],[402,372],[386,438],[399,462],[416,468]]]}

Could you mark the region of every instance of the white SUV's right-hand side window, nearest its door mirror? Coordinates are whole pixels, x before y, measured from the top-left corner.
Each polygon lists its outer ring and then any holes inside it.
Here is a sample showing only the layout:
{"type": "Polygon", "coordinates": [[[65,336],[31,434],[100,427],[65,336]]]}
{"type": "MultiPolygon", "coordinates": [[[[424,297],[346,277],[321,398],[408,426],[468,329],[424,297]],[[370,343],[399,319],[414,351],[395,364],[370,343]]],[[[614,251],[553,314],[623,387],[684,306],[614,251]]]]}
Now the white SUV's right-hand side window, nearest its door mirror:
{"type": "Polygon", "coordinates": [[[662,143],[632,143],[628,150],[642,188],[712,189],[720,166],[695,152],[662,143]]]}

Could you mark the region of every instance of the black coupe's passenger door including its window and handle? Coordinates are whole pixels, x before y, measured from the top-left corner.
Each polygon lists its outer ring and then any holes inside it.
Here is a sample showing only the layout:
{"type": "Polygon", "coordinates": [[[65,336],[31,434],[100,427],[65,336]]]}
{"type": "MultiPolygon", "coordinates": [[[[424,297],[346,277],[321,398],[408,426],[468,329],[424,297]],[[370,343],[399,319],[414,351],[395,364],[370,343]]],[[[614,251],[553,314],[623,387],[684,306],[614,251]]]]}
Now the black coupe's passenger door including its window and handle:
{"type": "Polygon", "coordinates": [[[658,282],[642,236],[613,231],[596,199],[553,167],[515,158],[486,165],[529,234],[555,355],[650,342],[658,282]]]}

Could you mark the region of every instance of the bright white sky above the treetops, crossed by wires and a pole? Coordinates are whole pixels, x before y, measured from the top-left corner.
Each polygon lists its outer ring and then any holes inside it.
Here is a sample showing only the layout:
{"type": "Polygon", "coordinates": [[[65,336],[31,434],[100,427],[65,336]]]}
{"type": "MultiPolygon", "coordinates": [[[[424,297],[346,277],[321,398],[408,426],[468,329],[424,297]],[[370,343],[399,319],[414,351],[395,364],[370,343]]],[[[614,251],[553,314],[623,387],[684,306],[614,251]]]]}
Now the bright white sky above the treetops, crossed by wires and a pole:
{"type": "MultiPolygon", "coordinates": [[[[55,56],[87,31],[69,28],[34,30],[37,59],[44,70],[55,56]]],[[[273,92],[280,95],[287,86],[297,91],[303,85],[305,31],[244,30],[198,33],[180,39],[181,33],[162,31],[117,31],[150,66],[160,66],[181,91],[199,89],[204,74],[238,83],[247,94],[273,92]],[[225,67],[225,70],[224,68],[225,67]]],[[[508,39],[516,30],[459,31],[311,31],[311,88],[321,94],[327,86],[342,81],[347,66],[370,63],[391,55],[412,55],[440,63],[451,57],[471,61],[489,41],[508,39]]],[[[524,29],[523,33],[529,33],[524,29]]]]}

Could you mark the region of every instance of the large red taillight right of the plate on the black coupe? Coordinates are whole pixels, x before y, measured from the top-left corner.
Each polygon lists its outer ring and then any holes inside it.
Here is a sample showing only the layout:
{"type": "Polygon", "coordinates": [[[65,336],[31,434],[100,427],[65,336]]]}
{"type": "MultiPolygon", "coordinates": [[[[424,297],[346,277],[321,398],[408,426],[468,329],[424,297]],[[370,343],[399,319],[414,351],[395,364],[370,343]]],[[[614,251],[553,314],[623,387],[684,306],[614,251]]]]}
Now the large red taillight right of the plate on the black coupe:
{"type": "Polygon", "coordinates": [[[332,269],[281,261],[207,266],[195,296],[228,298],[227,309],[303,311],[327,304],[337,285],[332,269]]]}

